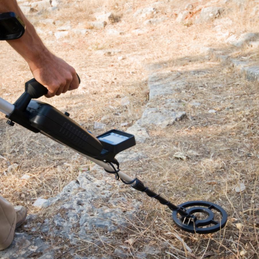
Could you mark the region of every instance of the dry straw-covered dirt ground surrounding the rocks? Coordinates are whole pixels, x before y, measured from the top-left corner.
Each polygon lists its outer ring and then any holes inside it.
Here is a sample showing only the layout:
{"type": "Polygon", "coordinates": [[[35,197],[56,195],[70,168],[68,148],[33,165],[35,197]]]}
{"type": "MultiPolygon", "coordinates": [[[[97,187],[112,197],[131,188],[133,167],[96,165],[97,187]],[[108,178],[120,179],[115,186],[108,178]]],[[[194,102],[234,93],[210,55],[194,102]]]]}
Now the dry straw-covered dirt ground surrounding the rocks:
{"type": "MultiPolygon", "coordinates": [[[[115,248],[126,245],[128,258],[136,258],[139,248],[150,244],[159,247],[160,252],[148,255],[148,258],[259,258],[258,82],[246,80],[238,70],[214,54],[207,57],[197,45],[212,47],[230,57],[249,57],[253,62],[258,62],[258,49],[247,45],[235,48],[219,41],[212,23],[176,22],[174,12],[168,12],[169,7],[177,10],[190,1],[161,5],[158,8],[160,15],[168,19],[156,26],[143,26],[132,19],[134,11],[151,5],[152,1],[130,2],[132,12],[127,12],[127,1],[85,1],[73,8],[71,2],[64,3],[55,14],[43,12],[41,18],[69,20],[73,26],[81,22],[86,28],[87,22],[93,20],[92,14],[100,7],[121,18],[104,29],[91,29],[84,36],[71,33],[57,40],[54,35],[42,35],[53,53],[76,68],[82,83],[77,91],[41,100],[67,111],[71,118],[95,135],[104,132],[94,130],[95,121],[105,123],[106,130],[125,131],[141,117],[148,103],[147,78],[152,71],[147,67],[152,65],[161,71],[180,72],[179,79],[185,81],[186,86],[171,97],[182,100],[187,116],[166,128],[151,125],[148,128],[151,138],[132,148],[143,151],[147,158],[121,164],[121,168],[131,176],[138,176],[173,203],[207,200],[222,206],[228,213],[226,227],[220,232],[190,234],[175,227],[170,211],[164,206],[144,194],[132,192],[128,186],[118,189],[113,181],[115,193],[142,201],[136,220],[129,222],[127,228],[112,233],[109,244],[96,247],[82,242],[73,249],[79,256],[119,258],[114,254],[115,248]],[[142,27],[146,30],[143,34],[132,33],[142,27]],[[107,30],[113,28],[124,33],[107,35],[107,30]],[[100,55],[98,50],[103,49],[120,49],[121,53],[100,55]],[[123,59],[118,60],[118,56],[123,59]],[[123,107],[120,101],[125,96],[130,105],[123,107]],[[201,105],[191,105],[193,100],[201,105]],[[208,113],[211,109],[216,112],[208,113]],[[124,122],[128,125],[121,127],[124,122]],[[174,158],[176,152],[187,158],[174,158]],[[245,190],[236,192],[235,188],[240,184],[245,185],[245,190]],[[131,241],[125,243],[127,240],[131,241]]],[[[259,32],[258,17],[250,19],[256,1],[248,2],[243,11],[228,5],[232,12],[226,16],[233,20],[232,25],[225,25],[229,31],[259,32]]],[[[219,3],[214,1],[212,4],[219,3]]],[[[206,6],[208,1],[192,4],[206,6]]],[[[54,24],[40,24],[35,14],[28,18],[43,31],[55,30],[54,24]]],[[[14,102],[32,75],[25,61],[5,42],[1,42],[0,60],[0,96],[14,102]]],[[[162,102],[163,98],[157,99],[158,106],[162,102]]],[[[47,199],[57,195],[82,168],[91,169],[93,164],[44,136],[30,133],[19,125],[9,127],[5,121],[0,115],[0,195],[14,205],[26,206],[29,214],[37,213],[40,222],[45,214],[51,216],[51,212],[33,207],[34,201],[38,197],[47,199]],[[7,172],[7,168],[15,164],[18,167],[7,172]],[[58,172],[58,165],[64,169],[62,172],[58,172]],[[24,174],[31,178],[20,179],[24,174]]],[[[30,233],[30,230],[26,231],[30,233]]],[[[44,235],[43,239],[51,240],[53,246],[61,242],[44,235]]],[[[66,251],[72,245],[66,240],[63,242],[63,254],[56,258],[71,256],[66,251]]]]}

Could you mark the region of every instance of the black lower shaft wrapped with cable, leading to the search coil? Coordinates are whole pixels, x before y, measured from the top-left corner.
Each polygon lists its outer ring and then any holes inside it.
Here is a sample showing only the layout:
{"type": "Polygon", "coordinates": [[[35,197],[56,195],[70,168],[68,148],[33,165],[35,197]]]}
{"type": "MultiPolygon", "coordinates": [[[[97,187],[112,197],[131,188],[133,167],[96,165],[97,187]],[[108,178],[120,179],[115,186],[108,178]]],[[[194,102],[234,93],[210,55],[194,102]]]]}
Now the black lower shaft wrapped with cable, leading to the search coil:
{"type": "Polygon", "coordinates": [[[178,213],[182,216],[189,216],[188,211],[183,207],[177,207],[170,201],[167,201],[165,198],[161,197],[159,194],[156,194],[153,191],[149,190],[148,187],[144,186],[144,184],[140,180],[138,180],[138,178],[136,178],[135,181],[136,183],[132,185],[134,189],[146,193],[146,195],[148,195],[151,198],[157,199],[161,204],[166,205],[167,207],[169,207],[170,210],[178,211],[178,213]]]}

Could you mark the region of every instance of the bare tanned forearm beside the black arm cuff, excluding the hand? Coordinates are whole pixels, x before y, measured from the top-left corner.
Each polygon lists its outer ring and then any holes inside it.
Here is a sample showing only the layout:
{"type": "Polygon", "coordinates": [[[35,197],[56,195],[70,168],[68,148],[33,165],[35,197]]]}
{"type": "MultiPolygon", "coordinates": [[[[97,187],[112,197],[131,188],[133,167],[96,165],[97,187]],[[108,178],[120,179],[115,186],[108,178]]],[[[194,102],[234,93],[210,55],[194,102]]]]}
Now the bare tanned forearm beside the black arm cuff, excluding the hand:
{"type": "Polygon", "coordinates": [[[16,0],[0,0],[0,13],[15,12],[26,25],[22,38],[10,40],[8,43],[26,60],[33,70],[35,64],[40,65],[43,60],[52,56],[37,35],[33,25],[26,19],[16,0]]]}

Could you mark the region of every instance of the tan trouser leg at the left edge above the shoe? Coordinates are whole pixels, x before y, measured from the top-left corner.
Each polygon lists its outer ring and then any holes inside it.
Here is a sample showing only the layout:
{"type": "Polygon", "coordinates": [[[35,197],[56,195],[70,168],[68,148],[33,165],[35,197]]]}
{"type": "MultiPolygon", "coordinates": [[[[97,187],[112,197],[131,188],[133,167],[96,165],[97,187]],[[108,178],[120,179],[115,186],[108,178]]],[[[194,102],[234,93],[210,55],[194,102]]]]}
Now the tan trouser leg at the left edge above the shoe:
{"type": "Polygon", "coordinates": [[[16,212],[12,204],[0,196],[0,250],[11,245],[14,239],[16,212]]]}

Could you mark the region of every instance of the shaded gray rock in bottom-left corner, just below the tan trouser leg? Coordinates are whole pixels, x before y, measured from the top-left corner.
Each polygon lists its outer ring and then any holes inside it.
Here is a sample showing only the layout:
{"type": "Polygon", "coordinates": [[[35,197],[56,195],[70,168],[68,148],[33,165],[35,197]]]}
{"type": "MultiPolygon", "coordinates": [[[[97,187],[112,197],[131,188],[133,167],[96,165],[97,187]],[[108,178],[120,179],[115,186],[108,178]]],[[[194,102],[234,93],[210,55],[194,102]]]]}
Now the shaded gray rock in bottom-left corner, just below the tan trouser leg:
{"type": "Polygon", "coordinates": [[[5,250],[0,251],[0,258],[37,258],[54,259],[55,251],[50,249],[49,244],[44,242],[40,237],[33,237],[26,233],[15,233],[14,241],[5,250]]]}

